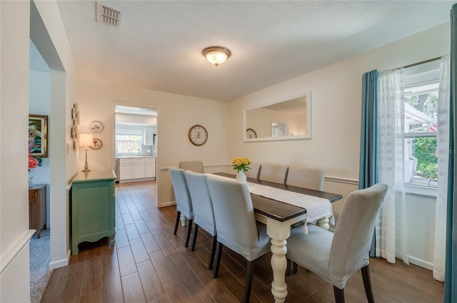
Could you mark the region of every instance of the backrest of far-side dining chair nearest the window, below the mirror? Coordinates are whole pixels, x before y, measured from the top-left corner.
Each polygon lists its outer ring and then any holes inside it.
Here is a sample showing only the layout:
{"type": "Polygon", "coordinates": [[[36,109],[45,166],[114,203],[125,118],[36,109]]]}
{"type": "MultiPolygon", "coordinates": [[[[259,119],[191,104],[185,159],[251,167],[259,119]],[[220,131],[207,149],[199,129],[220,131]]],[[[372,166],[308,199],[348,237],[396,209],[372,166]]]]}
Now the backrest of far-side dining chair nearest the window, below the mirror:
{"type": "Polygon", "coordinates": [[[288,168],[286,185],[322,191],[325,176],[325,170],[317,168],[288,168]]]}

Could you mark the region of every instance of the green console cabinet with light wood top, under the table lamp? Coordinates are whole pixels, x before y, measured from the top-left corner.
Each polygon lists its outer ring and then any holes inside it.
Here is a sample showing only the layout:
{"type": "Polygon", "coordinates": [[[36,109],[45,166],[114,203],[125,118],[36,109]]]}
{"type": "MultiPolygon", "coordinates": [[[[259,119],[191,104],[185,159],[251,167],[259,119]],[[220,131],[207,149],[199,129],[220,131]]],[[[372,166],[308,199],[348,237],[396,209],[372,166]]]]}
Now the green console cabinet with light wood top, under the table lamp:
{"type": "Polygon", "coordinates": [[[71,255],[81,242],[109,237],[114,244],[115,182],[113,171],[79,173],[71,180],[71,255]]]}

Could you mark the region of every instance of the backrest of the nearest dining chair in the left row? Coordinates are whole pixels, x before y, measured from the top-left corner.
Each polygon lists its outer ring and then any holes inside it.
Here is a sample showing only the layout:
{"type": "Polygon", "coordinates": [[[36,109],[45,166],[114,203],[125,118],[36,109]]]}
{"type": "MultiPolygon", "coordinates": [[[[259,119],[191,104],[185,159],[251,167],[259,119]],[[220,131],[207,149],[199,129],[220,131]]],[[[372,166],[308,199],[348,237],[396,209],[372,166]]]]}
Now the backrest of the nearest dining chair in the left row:
{"type": "Polygon", "coordinates": [[[209,177],[207,180],[216,219],[217,240],[253,260],[259,248],[251,195],[245,184],[209,177]]]}

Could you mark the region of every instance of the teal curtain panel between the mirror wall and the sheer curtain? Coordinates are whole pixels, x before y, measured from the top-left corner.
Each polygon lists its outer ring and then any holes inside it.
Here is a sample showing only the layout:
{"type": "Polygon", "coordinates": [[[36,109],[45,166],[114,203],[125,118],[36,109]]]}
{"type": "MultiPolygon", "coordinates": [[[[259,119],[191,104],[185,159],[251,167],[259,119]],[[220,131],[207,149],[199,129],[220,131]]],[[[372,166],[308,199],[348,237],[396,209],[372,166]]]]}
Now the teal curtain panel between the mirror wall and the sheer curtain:
{"type": "MultiPolygon", "coordinates": [[[[378,183],[376,169],[376,106],[378,106],[378,71],[368,71],[362,77],[362,124],[360,143],[360,168],[358,188],[368,188],[378,183]]],[[[370,256],[375,256],[375,234],[371,242],[370,256]]]]}

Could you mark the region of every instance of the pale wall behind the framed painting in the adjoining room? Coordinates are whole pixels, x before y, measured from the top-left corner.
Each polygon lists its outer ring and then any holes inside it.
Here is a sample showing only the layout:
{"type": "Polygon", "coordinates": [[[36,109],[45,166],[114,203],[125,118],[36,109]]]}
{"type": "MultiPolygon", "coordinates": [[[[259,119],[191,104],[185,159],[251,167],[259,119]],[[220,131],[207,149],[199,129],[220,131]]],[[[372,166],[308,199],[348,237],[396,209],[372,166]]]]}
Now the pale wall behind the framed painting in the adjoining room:
{"type": "MultiPolygon", "coordinates": [[[[29,74],[29,114],[48,115],[51,104],[51,73],[48,71],[30,71],[29,74]]],[[[49,183],[50,168],[48,158],[41,158],[41,166],[36,168],[34,184],[48,184],[46,186],[46,227],[49,224],[49,183]]]]}

